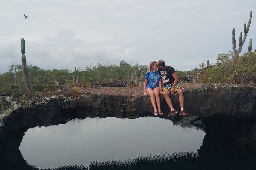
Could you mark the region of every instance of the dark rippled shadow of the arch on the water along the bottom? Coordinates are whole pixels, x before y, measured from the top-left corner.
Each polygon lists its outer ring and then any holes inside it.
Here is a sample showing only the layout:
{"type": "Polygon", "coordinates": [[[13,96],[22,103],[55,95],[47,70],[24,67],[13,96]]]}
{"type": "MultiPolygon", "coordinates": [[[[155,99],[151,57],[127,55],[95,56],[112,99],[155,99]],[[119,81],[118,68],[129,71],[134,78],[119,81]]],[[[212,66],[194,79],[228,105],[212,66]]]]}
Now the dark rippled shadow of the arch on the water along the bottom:
{"type": "Polygon", "coordinates": [[[22,157],[20,151],[1,157],[1,169],[4,170],[96,170],[96,169],[255,169],[255,157],[241,155],[233,151],[207,150],[198,152],[169,153],[158,156],[138,157],[126,161],[91,162],[89,165],[66,165],[57,168],[36,168],[29,165],[22,157]]]}

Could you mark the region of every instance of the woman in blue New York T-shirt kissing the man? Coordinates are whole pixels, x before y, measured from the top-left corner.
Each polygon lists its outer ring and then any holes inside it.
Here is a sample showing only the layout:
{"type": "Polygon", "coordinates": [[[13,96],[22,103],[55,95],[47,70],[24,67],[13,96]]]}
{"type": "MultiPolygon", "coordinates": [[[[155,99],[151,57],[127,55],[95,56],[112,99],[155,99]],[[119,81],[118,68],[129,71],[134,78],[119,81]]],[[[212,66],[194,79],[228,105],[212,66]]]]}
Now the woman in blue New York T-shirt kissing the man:
{"type": "Polygon", "coordinates": [[[159,93],[162,91],[162,82],[159,72],[157,71],[157,62],[152,61],[150,63],[150,72],[146,73],[144,81],[144,95],[150,95],[150,101],[154,107],[154,116],[162,116],[160,108],[160,96],[159,93]],[[157,107],[155,105],[157,102],[157,107]],[[158,108],[158,110],[157,110],[158,108]]]}

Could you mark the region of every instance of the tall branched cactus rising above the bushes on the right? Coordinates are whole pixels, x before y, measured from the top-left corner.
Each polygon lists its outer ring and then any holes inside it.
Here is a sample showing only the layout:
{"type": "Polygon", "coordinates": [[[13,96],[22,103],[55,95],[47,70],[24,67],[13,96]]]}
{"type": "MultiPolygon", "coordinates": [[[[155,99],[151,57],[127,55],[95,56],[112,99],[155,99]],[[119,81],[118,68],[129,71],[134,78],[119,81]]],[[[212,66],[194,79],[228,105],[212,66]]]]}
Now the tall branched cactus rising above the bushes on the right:
{"type": "Polygon", "coordinates": [[[242,46],[245,43],[245,39],[247,37],[247,33],[249,32],[252,16],[253,16],[253,12],[251,11],[250,12],[250,18],[249,18],[247,26],[246,26],[246,23],[243,25],[243,31],[245,33],[244,36],[242,35],[242,32],[240,33],[239,43],[238,43],[239,47],[238,47],[237,50],[235,49],[236,48],[236,45],[235,45],[235,28],[233,28],[233,30],[232,30],[232,44],[233,44],[232,48],[233,48],[233,55],[234,56],[239,54],[241,52],[241,50],[242,50],[242,46]]]}

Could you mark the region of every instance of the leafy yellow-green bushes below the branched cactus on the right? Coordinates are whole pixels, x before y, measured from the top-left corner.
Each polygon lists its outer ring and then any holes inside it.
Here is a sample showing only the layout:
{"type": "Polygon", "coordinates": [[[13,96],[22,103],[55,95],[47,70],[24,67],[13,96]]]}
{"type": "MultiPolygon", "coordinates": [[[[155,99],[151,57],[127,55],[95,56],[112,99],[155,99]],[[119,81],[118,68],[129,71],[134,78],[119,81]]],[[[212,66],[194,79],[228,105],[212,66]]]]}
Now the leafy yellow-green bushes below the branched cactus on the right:
{"type": "Polygon", "coordinates": [[[246,52],[243,56],[230,53],[218,54],[215,66],[204,67],[202,63],[199,82],[214,83],[245,83],[255,82],[256,76],[256,50],[246,52]]]}

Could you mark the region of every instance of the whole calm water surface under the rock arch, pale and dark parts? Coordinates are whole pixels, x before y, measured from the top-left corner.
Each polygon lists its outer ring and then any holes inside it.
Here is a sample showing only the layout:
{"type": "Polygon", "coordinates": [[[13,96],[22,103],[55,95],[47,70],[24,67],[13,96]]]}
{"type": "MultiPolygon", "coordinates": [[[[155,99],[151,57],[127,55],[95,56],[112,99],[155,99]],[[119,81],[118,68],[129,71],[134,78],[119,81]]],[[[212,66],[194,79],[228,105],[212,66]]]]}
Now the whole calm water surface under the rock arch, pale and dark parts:
{"type": "Polygon", "coordinates": [[[12,159],[17,160],[16,169],[254,167],[254,158],[200,148],[204,136],[201,128],[158,117],[74,119],[27,130],[19,151],[6,156],[4,168],[15,168],[8,165],[12,159]]]}

